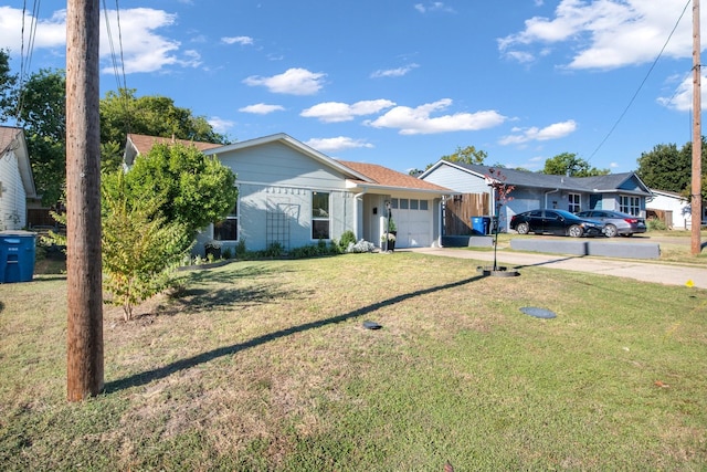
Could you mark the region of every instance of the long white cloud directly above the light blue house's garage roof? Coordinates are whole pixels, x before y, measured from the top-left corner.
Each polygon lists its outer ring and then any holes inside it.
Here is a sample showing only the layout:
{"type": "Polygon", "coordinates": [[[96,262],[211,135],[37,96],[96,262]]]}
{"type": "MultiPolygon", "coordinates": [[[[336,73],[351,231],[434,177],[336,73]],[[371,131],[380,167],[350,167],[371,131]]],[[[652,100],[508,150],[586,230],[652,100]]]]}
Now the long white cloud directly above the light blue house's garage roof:
{"type": "Polygon", "coordinates": [[[416,108],[397,106],[379,118],[366,122],[366,124],[376,128],[399,128],[401,135],[429,135],[485,129],[500,125],[506,120],[506,117],[496,111],[430,116],[450,105],[452,105],[452,99],[443,98],[416,108]]]}

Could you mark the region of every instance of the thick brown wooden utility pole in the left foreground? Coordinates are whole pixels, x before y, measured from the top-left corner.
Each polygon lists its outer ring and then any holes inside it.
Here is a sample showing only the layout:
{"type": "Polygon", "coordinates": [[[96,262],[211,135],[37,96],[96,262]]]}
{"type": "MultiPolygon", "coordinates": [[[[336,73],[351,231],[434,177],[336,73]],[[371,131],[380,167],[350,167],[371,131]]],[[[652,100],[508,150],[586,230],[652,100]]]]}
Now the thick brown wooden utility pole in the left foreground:
{"type": "Polygon", "coordinates": [[[66,390],[68,401],[103,390],[101,263],[99,0],[66,9],[66,390]]]}

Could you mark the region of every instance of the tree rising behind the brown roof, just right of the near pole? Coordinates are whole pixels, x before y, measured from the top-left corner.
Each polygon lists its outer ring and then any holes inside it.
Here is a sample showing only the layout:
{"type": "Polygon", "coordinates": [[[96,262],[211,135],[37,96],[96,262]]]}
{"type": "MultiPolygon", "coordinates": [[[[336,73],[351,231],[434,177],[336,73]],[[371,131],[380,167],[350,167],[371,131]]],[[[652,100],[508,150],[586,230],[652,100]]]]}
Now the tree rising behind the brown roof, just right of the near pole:
{"type": "MultiPolygon", "coordinates": [[[[175,105],[166,96],[135,96],[134,88],[107,92],[101,101],[101,143],[123,156],[128,133],[175,137],[194,141],[228,144],[224,135],[215,133],[203,116],[194,116],[189,108],[175,105]]],[[[117,168],[113,155],[102,155],[105,170],[117,168]]]]}

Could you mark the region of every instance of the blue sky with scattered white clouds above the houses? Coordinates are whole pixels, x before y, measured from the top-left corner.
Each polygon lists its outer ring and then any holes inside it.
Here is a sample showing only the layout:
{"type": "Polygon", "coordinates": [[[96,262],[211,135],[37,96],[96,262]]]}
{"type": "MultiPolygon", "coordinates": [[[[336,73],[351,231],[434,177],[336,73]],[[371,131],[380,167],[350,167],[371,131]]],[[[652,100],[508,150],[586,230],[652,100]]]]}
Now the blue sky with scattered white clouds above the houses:
{"type": "MultiPolygon", "coordinates": [[[[14,71],[23,48],[28,63],[31,3],[0,6],[14,71]]],[[[105,3],[127,86],[173,98],[232,140],[287,133],[400,171],[473,145],[490,165],[539,170],[576,153],[623,172],[657,144],[692,139],[686,0],[105,3]]],[[[117,87],[105,19],[102,96],[117,87]]],[[[41,2],[35,20],[30,71],[63,69],[65,10],[41,2]]]]}

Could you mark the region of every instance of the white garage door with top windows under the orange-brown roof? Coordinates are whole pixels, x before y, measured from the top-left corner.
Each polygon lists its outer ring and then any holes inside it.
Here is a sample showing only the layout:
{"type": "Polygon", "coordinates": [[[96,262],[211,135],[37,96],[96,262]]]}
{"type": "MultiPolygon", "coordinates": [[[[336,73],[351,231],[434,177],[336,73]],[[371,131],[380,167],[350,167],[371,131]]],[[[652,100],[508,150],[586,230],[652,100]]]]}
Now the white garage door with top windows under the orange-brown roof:
{"type": "Polygon", "coordinates": [[[432,206],[429,200],[391,200],[393,221],[398,227],[397,248],[429,248],[432,245],[432,206]]]}

